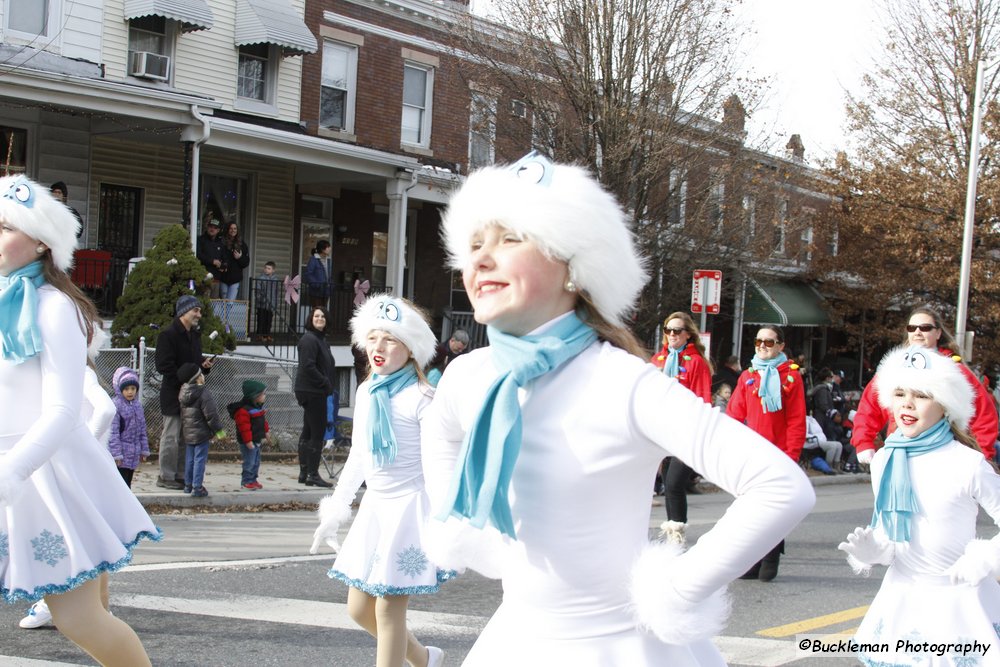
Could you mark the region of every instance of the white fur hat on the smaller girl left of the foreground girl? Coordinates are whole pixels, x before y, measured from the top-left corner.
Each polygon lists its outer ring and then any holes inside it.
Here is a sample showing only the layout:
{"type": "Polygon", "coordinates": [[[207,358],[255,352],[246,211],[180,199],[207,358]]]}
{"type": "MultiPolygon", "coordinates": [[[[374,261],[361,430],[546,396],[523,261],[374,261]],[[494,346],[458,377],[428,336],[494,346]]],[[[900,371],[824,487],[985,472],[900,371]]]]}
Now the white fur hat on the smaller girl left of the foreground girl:
{"type": "Polygon", "coordinates": [[[421,370],[434,358],[437,339],[427,326],[423,314],[406,299],[389,294],[374,294],[354,310],[351,318],[351,341],[360,350],[365,349],[365,339],[373,329],[388,331],[403,345],[421,370]]]}

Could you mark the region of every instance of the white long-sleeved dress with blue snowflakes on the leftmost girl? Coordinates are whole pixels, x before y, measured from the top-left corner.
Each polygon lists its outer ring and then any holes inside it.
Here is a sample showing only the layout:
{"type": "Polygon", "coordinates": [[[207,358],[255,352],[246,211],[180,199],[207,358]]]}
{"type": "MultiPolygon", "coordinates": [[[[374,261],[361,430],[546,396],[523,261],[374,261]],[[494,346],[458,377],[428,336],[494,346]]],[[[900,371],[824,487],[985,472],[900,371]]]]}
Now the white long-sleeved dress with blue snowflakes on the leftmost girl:
{"type": "Polygon", "coordinates": [[[0,480],[27,477],[0,506],[7,602],[76,588],[161,536],[81,417],[87,345],[75,306],[50,286],[38,294],[43,351],[0,359],[0,480]]]}

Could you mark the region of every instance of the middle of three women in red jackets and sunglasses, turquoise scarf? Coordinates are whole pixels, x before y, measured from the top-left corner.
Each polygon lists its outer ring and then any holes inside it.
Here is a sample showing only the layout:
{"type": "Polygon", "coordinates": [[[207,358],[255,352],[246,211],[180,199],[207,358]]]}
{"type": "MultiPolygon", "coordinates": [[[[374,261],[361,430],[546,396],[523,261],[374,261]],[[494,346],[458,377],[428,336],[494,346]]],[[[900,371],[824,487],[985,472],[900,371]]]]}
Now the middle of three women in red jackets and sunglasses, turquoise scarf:
{"type": "MultiPolygon", "coordinates": [[[[806,394],[798,364],[785,356],[780,327],[757,331],[750,368],[740,374],[726,414],[764,436],[796,463],[806,440],[806,394]]],[[[779,542],[740,579],[771,581],[778,575],[778,561],[785,551],[779,542]]]]}

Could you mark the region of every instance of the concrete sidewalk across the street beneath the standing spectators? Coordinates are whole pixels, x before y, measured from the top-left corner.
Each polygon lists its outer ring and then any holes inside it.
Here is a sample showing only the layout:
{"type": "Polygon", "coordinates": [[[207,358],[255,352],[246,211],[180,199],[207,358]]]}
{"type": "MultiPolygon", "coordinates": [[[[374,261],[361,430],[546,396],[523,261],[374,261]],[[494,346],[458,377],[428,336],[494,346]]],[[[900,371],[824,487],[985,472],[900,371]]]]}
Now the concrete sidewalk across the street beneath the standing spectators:
{"type": "MultiPolygon", "coordinates": [[[[338,466],[339,469],[339,466],[338,466]]],[[[159,505],[183,509],[188,507],[232,507],[242,505],[269,505],[286,503],[316,504],[332,489],[318,489],[298,483],[299,466],[291,458],[283,461],[261,461],[258,481],[263,489],[250,491],[240,488],[240,471],[242,466],[236,461],[209,460],[205,470],[205,488],[209,495],[205,498],[193,498],[191,494],[182,491],[161,489],[156,486],[156,476],[159,467],[156,462],[144,463],[135,471],[132,479],[132,490],[144,506],[159,505]]],[[[330,480],[324,468],[320,468],[323,479],[330,480]]],[[[871,475],[867,473],[849,475],[819,475],[810,476],[813,486],[828,484],[871,484],[871,475]]],[[[718,489],[707,482],[698,485],[702,493],[714,493],[718,489]]],[[[662,496],[654,497],[653,502],[663,504],[662,496]]]]}

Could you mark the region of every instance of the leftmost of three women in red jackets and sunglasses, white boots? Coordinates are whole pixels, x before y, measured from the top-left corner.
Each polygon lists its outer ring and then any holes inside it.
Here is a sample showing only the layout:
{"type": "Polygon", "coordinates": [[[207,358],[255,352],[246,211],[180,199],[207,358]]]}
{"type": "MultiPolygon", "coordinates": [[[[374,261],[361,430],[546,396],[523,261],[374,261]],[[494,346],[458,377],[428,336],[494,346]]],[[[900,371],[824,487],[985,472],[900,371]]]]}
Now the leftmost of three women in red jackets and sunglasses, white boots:
{"type": "MultiPolygon", "coordinates": [[[[663,321],[663,349],[650,359],[667,377],[677,378],[709,405],[712,404],[712,362],[691,316],[671,313],[663,321]]],[[[691,468],[676,456],[664,459],[661,467],[667,520],[660,524],[664,538],[685,544],[687,529],[687,485],[691,468]]]]}

